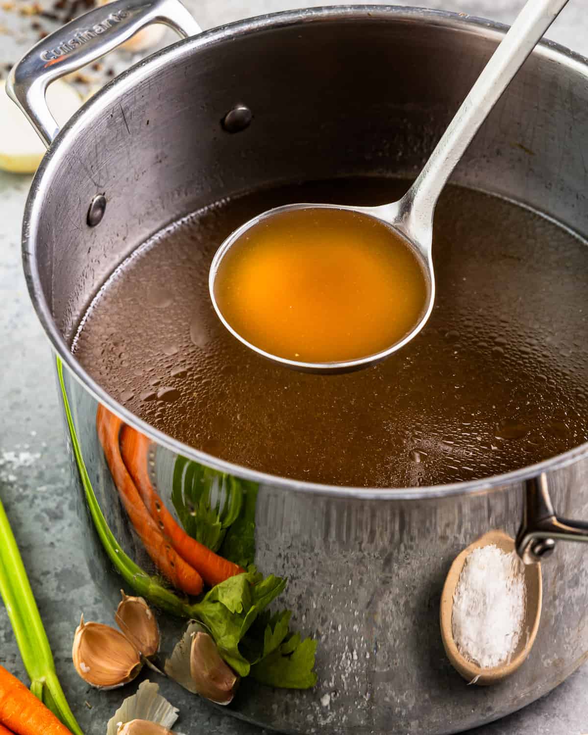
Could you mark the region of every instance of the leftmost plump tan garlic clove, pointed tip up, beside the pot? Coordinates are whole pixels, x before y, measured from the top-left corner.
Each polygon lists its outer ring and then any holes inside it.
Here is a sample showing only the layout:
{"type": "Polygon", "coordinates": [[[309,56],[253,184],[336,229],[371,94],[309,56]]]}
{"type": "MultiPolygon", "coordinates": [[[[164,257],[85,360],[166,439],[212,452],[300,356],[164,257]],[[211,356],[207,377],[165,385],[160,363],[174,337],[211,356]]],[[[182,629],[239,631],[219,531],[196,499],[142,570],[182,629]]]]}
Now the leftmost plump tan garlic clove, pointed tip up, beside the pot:
{"type": "Polygon", "coordinates": [[[140,655],[115,628],[102,623],[79,621],[71,651],[73,665],[87,684],[113,689],[132,681],[140,672],[140,655]]]}

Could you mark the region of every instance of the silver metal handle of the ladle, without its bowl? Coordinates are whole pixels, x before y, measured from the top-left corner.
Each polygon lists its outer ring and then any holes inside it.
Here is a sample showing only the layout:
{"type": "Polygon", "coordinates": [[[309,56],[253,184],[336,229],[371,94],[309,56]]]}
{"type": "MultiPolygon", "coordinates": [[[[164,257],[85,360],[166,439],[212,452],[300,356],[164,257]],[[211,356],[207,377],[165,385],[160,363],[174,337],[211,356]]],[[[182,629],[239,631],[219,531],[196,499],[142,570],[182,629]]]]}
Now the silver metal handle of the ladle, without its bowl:
{"type": "Polygon", "coordinates": [[[402,198],[401,219],[417,242],[430,248],[437,198],[481,123],[567,0],[527,0],[498,49],[478,76],[412,187],[402,198]]]}

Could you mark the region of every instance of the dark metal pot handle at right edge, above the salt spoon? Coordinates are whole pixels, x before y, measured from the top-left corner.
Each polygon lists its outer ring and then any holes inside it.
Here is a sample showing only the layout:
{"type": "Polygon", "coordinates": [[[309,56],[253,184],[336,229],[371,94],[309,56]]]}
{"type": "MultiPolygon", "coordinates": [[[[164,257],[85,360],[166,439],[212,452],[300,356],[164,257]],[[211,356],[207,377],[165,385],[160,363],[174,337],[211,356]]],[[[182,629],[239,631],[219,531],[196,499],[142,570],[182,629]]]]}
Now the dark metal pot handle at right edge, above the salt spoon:
{"type": "Polygon", "coordinates": [[[545,473],[526,481],[525,509],[515,546],[525,564],[534,564],[549,556],[562,541],[588,542],[588,523],[556,515],[549,497],[545,473]]]}

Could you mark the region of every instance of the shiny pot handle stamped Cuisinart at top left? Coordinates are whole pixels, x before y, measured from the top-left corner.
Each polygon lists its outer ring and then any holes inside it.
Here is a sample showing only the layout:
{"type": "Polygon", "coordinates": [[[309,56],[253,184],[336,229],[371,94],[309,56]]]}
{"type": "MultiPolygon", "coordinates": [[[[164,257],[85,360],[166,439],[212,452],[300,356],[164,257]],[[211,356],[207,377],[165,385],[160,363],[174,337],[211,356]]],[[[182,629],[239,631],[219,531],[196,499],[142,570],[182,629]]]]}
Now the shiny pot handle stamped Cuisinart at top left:
{"type": "Polygon", "coordinates": [[[48,148],[60,132],[45,99],[51,82],[96,61],[152,23],[186,38],[201,32],[180,0],[115,0],[43,38],[12,68],[7,93],[48,148]]]}

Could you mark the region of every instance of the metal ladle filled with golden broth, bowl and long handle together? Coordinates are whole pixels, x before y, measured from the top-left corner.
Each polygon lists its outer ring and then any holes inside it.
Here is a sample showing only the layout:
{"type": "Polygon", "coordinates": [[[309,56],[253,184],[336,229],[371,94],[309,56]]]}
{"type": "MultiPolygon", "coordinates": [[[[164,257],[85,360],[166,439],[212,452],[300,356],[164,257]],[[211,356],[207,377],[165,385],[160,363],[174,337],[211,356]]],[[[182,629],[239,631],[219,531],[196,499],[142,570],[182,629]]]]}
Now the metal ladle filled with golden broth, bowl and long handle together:
{"type": "Polygon", "coordinates": [[[289,368],[315,373],[344,373],[380,362],[423,329],[431,315],[435,295],[431,245],[437,198],[481,123],[566,3],[567,0],[527,1],[459,107],[423,171],[399,201],[380,207],[289,204],[257,215],[224,240],[212,259],[209,292],[218,317],[234,337],[258,354],[289,368]],[[306,218],[307,232],[315,235],[318,232],[318,248],[322,247],[321,242],[331,247],[328,229],[323,235],[319,228],[319,221],[325,218],[326,210],[333,217],[348,218],[347,223],[340,223],[340,229],[345,229],[345,224],[348,224],[351,230],[362,223],[366,231],[371,227],[378,229],[381,235],[381,229],[385,228],[391,248],[412,254],[422,272],[422,283],[409,263],[405,264],[408,270],[398,273],[390,270],[395,278],[393,287],[387,293],[384,284],[380,284],[381,303],[376,304],[370,279],[373,279],[377,267],[365,273],[363,268],[357,267],[357,264],[363,267],[369,259],[374,264],[383,262],[379,261],[381,248],[374,254],[369,251],[369,242],[363,243],[362,254],[355,254],[347,270],[342,270],[340,282],[337,282],[336,274],[329,273],[329,268],[334,270],[340,266],[337,250],[326,254],[323,262],[314,264],[315,271],[312,271],[308,267],[309,257],[304,247],[299,248],[297,262],[292,259],[276,261],[267,247],[259,249],[259,235],[266,237],[270,228],[281,224],[282,232],[279,232],[276,242],[284,250],[283,243],[287,240],[282,234],[284,218],[296,219],[298,226],[301,218],[306,218]],[[232,261],[241,255],[246,256],[247,249],[254,246],[259,253],[251,251],[249,259],[243,257],[237,264],[238,268],[234,266],[232,261]],[[267,268],[265,262],[260,261],[262,257],[269,264],[267,268]],[[226,276],[227,264],[232,265],[231,279],[226,276]],[[251,276],[255,268],[261,269],[255,275],[257,281],[251,276]],[[245,271],[248,273],[248,287],[242,287],[240,282],[245,271]],[[409,273],[408,277],[406,273],[409,273]],[[263,301],[265,290],[271,291],[271,298],[267,301],[263,301]],[[259,291],[262,292],[261,300],[259,291]],[[393,309],[390,309],[391,299],[393,309]],[[386,305],[388,308],[384,308],[386,305]],[[336,323],[334,315],[338,311],[344,316],[336,323]],[[240,318],[235,317],[237,313],[240,318]],[[391,320],[397,318],[398,329],[387,331],[391,320]],[[356,339],[364,328],[369,329],[373,340],[370,341],[370,334],[363,340],[356,339]],[[388,336],[388,343],[382,344],[382,335],[384,341],[388,336]],[[345,351],[345,340],[351,345],[348,351],[345,351]],[[329,355],[323,345],[331,343],[332,354],[329,355]]]}

